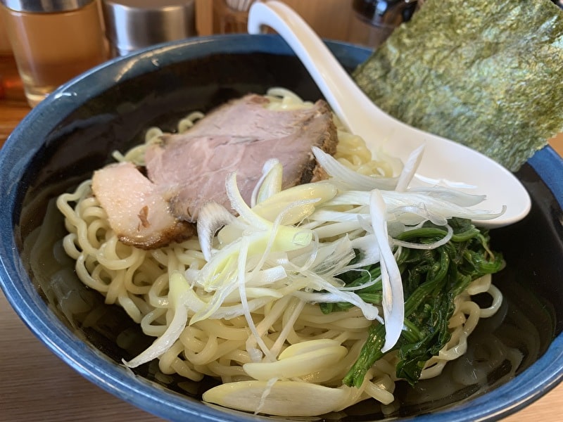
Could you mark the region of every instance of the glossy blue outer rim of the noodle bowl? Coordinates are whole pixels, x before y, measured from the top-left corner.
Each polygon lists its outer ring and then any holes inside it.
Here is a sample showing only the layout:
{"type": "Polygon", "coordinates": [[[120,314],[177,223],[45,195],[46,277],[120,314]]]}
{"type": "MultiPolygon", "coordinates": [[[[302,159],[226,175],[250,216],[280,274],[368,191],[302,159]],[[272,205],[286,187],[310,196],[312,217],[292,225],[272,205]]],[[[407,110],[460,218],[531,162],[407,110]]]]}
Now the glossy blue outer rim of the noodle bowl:
{"type": "MultiPolygon", "coordinates": [[[[366,60],[371,51],[336,41],[327,41],[329,48],[342,63],[354,65],[366,60]]],[[[61,116],[100,94],[111,84],[131,79],[144,72],[157,70],[189,58],[213,53],[277,53],[293,55],[287,44],[276,35],[221,35],[196,37],[160,44],[115,58],[72,79],[34,108],[8,137],[0,150],[0,191],[4,193],[0,210],[0,226],[13,227],[19,175],[42,145],[42,135],[55,129],[61,116]],[[80,95],[78,94],[80,93],[80,95]],[[37,139],[37,141],[35,141],[37,139]]],[[[563,160],[550,147],[538,151],[529,160],[541,179],[563,207],[563,183],[558,177],[563,160]]],[[[223,411],[217,407],[186,399],[135,376],[125,366],[110,362],[98,350],[84,343],[51,312],[39,297],[18,256],[18,248],[11,231],[0,235],[0,283],[4,294],[28,328],[54,354],[84,378],[125,402],[171,421],[198,418],[208,421],[241,422],[260,420],[259,416],[237,411],[223,411]],[[64,346],[63,346],[64,345],[64,346]]],[[[483,421],[498,419],[514,413],[554,388],[563,378],[563,334],[558,335],[538,361],[519,376],[486,395],[455,407],[434,411],[403,420],[417,421],[483,421]]],[[[264,418],[263,420],[272,420],[264,418]]]]}

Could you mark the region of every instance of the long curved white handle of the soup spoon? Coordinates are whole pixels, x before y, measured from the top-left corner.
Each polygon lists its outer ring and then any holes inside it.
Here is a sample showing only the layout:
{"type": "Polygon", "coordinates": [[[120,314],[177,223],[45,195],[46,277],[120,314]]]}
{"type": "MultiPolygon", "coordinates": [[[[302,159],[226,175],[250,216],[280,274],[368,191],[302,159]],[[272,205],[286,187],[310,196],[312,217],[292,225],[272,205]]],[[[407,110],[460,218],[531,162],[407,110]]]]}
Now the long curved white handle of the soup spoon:
{"type": "Polygon", "coordinates": [[[301,59],[334,113],[348,129],[373,139],[374,128],[401,124],[386,115],[358,87],[348,72],[298,13],[279,1],[255,2],[248,15],[248,33],[259,34],[262,25],[272,27],[301,59]]]}

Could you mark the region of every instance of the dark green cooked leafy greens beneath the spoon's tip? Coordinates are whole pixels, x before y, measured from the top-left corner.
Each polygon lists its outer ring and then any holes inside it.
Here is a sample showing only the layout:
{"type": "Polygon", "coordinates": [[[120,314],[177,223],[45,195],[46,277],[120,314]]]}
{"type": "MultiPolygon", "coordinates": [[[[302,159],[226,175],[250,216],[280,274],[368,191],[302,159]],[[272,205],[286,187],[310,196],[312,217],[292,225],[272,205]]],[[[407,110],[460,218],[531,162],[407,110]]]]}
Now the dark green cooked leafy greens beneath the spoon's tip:
{"type": "MultiPolygon", "coordinates": [[[[400,362],[397,376],[415,383],[424,363],[450,340],[448,323],[454,311],[454,298],[474,279],[493,274],[502,268],[502,256],[488,248],[488,232],[477,229],[467,219],[449,221],[454,234],[450,242],[434,250],[403,248],[397,262],[405,292],[405,328],[393,350],[398,350],[400,362]]],[[[420,229],[405,231],[398,239],[418,243],[433,243],[445,236],[445,229],[426,223],[420,229]]],[[[372,277],[379,276],[379,264],[367,269],[372,277]]],[[[349,271],[341,277],[346,286],[357,286],[369,275],[349,271]]],[[[381,303],[381,283],[357,292],[364,300],[381,303]]],[[[323,312],[346,309],[347,304],[322,304],[323,312]]],[[[385,326],[374,324],[360,357],[343,382],[359,387],[365,373],[381,357],[385,343],[385,326]]]]}

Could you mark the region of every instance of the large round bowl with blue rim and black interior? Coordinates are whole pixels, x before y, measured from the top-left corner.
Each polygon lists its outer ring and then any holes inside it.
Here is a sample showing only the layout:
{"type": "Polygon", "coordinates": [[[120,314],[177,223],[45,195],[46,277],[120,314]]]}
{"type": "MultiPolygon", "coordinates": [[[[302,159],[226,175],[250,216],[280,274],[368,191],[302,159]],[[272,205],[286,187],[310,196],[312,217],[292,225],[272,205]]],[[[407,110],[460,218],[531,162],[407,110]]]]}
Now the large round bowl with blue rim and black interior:
{"type": "MultiPolygon", "coordinates": [[[[370,51],[327,42],[352,70],[370,51]]],[[[53,200],[140,143],[148,127],[173,131],[193,110],[207,111],[270,87],[322,98],[289,46],[273,34],[236,34],[162,44],[117,58],[73,79],[34,108],[0,152],[1,285],[15,312],[64,362],[113,395],[172,421],[267,421],[205,404],[212,384],[159,373],[154,362],[122,364],[150,343],[120,307],[106,305],[75,274],[61,249],[63,217],[53,200]]],[[[462,157],[453,158],[463,160],[462,157]]],[[[521,222],[491,232],[507,266],[494,283],[505,300],[479,324],[468,352],[438,378],[398,383],[382,411],[362,402],[324,420],[476,421],[506,416],[563,376],[563,161],[549,146],[517,172],[533,200],[521,222]],[[502,350],[495,354],[492,350],[502,350]],[[495,362],[493,364],[493,355],[495,362]],[[472,380],[472,367],[489,366],[472,380]],[[391,409],[391,410],[390,410],[391,409]]],[[[494,181],[491,181],[494,183],[494,181]]],[[[274,418],[284,420],[284,418],[274,418]]]]}

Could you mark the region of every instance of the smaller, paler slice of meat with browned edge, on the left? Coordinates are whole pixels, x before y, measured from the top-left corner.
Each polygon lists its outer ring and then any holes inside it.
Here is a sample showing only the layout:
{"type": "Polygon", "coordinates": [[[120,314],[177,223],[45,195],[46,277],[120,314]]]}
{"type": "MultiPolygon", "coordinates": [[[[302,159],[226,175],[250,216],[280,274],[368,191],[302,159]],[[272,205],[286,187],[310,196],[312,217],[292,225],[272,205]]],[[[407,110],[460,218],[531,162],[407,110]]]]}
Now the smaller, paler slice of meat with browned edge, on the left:
{"type": "Polygon", "coordinates": [[[120,241],[141,249],[160,248],[196,233],[194,224],[177,219],[158,187],[130,162],[94,172],[92,191],[120,241]]]}

